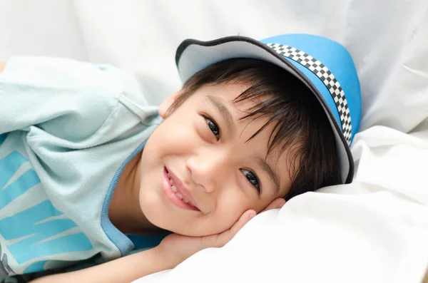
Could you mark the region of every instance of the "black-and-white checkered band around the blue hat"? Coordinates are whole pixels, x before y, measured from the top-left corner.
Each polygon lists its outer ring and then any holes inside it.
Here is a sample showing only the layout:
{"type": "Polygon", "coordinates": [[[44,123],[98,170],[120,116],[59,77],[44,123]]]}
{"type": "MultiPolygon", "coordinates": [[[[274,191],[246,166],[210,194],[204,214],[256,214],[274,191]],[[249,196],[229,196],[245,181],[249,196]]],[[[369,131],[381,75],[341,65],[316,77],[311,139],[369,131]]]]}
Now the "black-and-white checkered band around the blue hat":
{"type": "Polygon", "coordinates": [[[318,78],[320,78],[322,83],[324,83],[327,87],[328,91],[330,91],[330,94],[335,101],[337,112],[340,116],[340,123],[342,123],[342,133],[345,136],[347,144],[350,145],[352,130],[350,108],[348,107],[345,98],[345,92],[343,91],[335,76],[333,76],[332,72],[316,58],[313,58],[307,53],[294,47],[278,43],[267,43],[266,45],[272,48],[272,50],[276,53],[290,58],[291,60],[300,63],[302,66],[305,66],[312,73],[315,73],[318,78]]]}

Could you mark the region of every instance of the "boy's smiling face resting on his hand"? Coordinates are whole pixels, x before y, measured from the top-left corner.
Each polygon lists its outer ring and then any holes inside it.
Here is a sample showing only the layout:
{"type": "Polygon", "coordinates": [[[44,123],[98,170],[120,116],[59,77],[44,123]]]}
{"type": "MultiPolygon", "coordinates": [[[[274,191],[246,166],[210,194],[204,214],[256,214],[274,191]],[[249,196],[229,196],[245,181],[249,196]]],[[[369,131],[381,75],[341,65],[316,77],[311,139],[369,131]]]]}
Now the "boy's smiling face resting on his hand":
{"type": "Polygon", "coordinates": [[[153,225],[181,235],[216,234],[243,212],[260,212],[285,195],[291,182],[287,153],[267,156],[274,125],[247,141],[267,118],[240,120],[254,104],[232,102],[247,87],[203,86],[168,117],[165,111],[180,93],[164,101],[159,113],[165,120],[141,158],[140,204],[153,225]]]}

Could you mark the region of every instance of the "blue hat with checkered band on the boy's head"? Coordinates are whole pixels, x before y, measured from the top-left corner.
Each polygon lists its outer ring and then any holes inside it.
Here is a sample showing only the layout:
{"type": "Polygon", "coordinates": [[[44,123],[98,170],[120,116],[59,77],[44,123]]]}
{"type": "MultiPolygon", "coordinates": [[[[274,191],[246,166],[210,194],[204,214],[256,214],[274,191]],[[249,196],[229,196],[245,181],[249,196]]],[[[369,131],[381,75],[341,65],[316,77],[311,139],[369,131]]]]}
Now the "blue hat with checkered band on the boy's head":
{"type": "Polygon", "coordinates": [[[230,58],[255,58],[285,68],[306,84],[324,108],[335,133],[342,182],[354,176],[350,144],[360,126],[357,71],[345,47],[322,36],[285,34],[262,41],[229,36],[214,41],[186,39],[175,63],[183,82],[203,68],[230,58]]]}

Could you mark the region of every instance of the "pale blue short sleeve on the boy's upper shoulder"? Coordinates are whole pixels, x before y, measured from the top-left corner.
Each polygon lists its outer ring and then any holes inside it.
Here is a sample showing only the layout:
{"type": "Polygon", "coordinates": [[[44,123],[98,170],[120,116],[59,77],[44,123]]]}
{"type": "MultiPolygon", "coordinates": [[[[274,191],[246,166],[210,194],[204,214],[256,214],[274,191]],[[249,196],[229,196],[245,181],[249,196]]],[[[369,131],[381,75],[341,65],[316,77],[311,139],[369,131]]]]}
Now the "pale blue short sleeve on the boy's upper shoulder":
{"type": "Polygon", "coordinates": [[[110,65],[12,57],[0,73],[0,135],[37,126],[58,138],[84,139],[113,112],[125,83],[110,65]]]}

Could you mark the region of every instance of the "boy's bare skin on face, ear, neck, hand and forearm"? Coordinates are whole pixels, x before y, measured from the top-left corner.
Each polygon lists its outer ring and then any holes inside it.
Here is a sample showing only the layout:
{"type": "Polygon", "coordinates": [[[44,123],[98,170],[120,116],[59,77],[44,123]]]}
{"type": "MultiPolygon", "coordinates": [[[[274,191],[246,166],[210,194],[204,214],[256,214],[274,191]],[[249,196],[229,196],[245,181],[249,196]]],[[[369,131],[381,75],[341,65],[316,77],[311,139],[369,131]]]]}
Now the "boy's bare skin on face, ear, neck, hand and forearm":
{"type": "MultiPolygon", "coordinates": [[[[0,62],[0,73],[5,66],[0,62]]],[[[246,87],[205,86],[167,116],[171,103],[182,94],[173,93],[159,108],[164,122],[118,180],[109,209],[113,225],[125,233],[165,229],[173,234],[152,249],[34,282],[132,282],[176,267],[201,249],[223,247],[256,213],[282,207],[282,197],[291,182],[287,170],[290,160],[287,152],[267,156],[273,125],[246,142],[265,123],[263,118],[239,120],[253,103],[231,101],[246,87]],[[207,102],[208,95],[218,98],[228,109],[233,120],[230,129],[213,103],[207,102]],[[213,127],[213,121],[217,127],[213,127]],[[278,177],[279,190],[255,161],[255,155],[267,160],[278,177]],[[161,189],[164,166],[188,187],[200,211],[182,210],[165,197],[161,189]],[[252,182],[248,180],[248,170],[258,176],[260,192],[253,175],[249,178],[252,182]]]]}

